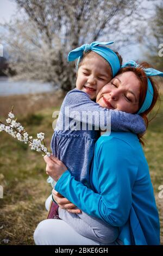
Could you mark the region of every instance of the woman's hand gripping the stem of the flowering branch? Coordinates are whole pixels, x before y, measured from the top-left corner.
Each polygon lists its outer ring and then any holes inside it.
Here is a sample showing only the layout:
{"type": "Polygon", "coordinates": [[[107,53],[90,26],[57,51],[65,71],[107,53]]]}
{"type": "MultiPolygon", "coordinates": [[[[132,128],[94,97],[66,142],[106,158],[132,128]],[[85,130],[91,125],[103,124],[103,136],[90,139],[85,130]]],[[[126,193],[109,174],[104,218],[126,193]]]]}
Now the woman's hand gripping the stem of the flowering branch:
{"type": "Polygon", "coordinates": [[[46,162],[46,173],[51,176],[53,180],[58,181],[60,176],[67,170],[65,164],[53,155],[50,157],[44,156],[43,159],[46,162]]]}

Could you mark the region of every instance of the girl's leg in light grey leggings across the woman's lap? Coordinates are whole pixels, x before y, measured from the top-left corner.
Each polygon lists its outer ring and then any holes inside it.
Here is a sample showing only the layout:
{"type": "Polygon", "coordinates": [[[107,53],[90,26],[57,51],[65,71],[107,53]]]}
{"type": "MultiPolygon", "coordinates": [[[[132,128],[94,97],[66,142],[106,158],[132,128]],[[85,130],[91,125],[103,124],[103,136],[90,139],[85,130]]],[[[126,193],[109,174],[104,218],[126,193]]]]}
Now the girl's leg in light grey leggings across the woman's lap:
{"type": "Polygon", "coordinates": [[[118,228],[112,227],[99,218],[85,214],[71,214],[59,208],[59,217],[69,224],[80,235],[102,242],[106,245],[114,243],[118,237],[118,228]]]}

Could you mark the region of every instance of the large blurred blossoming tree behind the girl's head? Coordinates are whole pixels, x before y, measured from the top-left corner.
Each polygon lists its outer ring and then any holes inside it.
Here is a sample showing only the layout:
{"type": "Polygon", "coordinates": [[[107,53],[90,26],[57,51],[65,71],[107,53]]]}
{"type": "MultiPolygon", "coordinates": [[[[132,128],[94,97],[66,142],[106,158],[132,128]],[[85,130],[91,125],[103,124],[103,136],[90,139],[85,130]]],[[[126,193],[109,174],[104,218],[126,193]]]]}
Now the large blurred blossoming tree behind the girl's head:
{"type": "MultiPolygon", "coordinates": [[[[144,0],[147,2],[147,0],[144,0]]],[[[149,0],[148,0],[149,1],[149,0]]],[[[147,7],[142,0],[15,0],[26,13],[6,23],[2,39],[16,78],[53,81],[65,91],[75,85],[73,48],[96,40],[116,39],[116,50],[139,33],[147,7]]],[[[1,38],[0,38],[1,39],[1,38]]],[[[139,40],[139,39],[138,39],[139,40]]]]}

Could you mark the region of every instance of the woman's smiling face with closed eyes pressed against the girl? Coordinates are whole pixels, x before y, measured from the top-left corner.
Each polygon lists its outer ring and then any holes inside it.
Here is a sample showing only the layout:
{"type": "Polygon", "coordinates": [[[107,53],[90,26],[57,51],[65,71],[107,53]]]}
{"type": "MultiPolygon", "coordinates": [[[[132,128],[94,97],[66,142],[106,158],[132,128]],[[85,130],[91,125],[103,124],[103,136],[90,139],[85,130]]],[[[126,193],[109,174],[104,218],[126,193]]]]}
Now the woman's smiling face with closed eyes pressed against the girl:
{"type": "Polygon", "coordinates": [[[139,109],[140,81],[132,71],[115,76],[98,93],[96,102],[105,108],[127,113],[139,109]]]}

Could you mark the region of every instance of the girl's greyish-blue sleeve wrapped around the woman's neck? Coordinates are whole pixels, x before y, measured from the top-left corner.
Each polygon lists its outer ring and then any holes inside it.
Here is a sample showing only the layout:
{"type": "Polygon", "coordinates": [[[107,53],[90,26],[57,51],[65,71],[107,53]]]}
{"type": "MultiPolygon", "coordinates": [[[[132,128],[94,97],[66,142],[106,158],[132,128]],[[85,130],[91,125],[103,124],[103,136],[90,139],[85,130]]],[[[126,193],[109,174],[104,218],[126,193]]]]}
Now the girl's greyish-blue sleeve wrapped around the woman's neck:
{"type": "Polygon", "coordinates": [[[104,120],[104,126],[107,125],[108,127],[111,124],[111,130],[113,131],[130,131],[134,133],[146,131],[145,121],[140,115],[103,108],[81,90],[73,89],[68,92],[64,100],[64,107],[69,108],[67,112],[69,117],[78,122],[82,120],[83,123],[91,123],[91,125],[99,127],[99,124],[104,120]],[[93,113],[93,118],[87,118],[86,113],[90,117],[93,113]]]}

